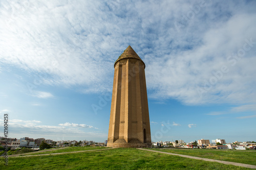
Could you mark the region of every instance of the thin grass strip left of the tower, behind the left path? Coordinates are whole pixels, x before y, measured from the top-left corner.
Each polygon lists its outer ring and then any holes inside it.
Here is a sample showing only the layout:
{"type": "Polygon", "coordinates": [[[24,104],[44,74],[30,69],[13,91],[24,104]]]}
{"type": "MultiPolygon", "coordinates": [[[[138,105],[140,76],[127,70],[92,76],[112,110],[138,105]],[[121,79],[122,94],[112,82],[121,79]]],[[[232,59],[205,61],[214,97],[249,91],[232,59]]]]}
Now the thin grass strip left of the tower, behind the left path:
{"type": "Polygon", "coordinates": [[[106,147],[68,147],[59,150],[46,150],[45,152],[33,152],[26,155],[42,155],[42,154],[53,154],[53,153],[63,153],[63,152],[75,152],[75,151],[88,151],[88,150],[99,150],[105,149],[106,147]]]}

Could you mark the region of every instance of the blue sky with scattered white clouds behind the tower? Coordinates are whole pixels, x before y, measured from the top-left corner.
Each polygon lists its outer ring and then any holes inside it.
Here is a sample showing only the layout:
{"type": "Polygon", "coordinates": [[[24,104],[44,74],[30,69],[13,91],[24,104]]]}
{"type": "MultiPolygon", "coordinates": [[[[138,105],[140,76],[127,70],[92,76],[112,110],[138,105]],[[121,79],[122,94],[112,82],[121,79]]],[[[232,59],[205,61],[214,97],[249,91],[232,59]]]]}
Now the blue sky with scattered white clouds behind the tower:
{"type": "MultiPolygon", "coordinates": [[[[0,126],[108,138],[114,62],[146,64],[153,141],[256,140],[255,1],[1,1],[0,126]]],[[[3,134],[0,136],[3,136],[3,134]]]]}

